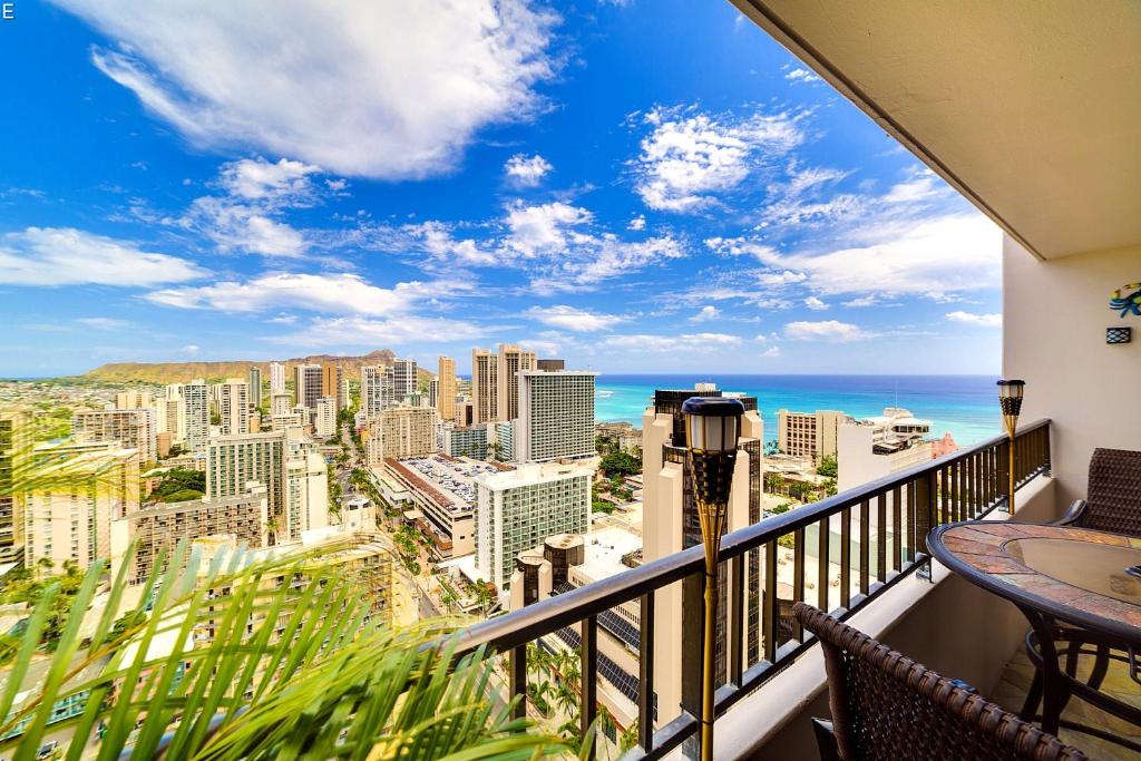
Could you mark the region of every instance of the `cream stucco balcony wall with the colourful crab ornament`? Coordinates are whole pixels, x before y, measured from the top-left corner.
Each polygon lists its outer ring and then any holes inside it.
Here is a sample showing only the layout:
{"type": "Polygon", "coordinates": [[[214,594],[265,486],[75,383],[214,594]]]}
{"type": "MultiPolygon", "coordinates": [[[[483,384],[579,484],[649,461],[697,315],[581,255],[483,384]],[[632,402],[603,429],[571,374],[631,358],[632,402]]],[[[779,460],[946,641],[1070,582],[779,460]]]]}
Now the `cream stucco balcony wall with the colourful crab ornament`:
{"type": "Polygon", "coordinates": [[[1050,418],[1059,496],[1085,495],[1094,447],[1141,450],[1141,317],[1109,309],[1141,282],[1141,246],[1038,261],[1003,240],[1003,373],[1026,380],[1022,420],[1050,418]],[[1106,343],[1106,329],[1133,342],[1106,343]]]}

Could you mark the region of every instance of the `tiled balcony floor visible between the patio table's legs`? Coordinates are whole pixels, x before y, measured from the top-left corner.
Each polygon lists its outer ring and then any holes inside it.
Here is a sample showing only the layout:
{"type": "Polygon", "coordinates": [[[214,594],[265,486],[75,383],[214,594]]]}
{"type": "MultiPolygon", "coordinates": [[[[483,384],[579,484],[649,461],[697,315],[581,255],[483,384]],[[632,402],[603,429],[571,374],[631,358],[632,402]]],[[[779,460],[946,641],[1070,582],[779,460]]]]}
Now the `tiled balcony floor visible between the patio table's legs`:
{"type": "MultiPolygon", "coordinates": [[[[1120,701],[1141,706],[1141,685],[1130,679],[1128,666],[1118,661],[1110,661],[1109,664],[1109,673],[1106,674],[1106,681],[1102,683],[1101,689],[1110,693],[1120,701]]],[[[1093,658],[1083,657],[1078,664],[1078,677],[1082,679],[1089,677],[1092,666],[1093,658]]],[[[987,697],[1008,711],[1017,713],[1022,707],[1022,701],[1026,699],[1026,694],[1030,689],[1030,680],[1033,678],[1034,665],[1027,659],[1026,654],[1020,648],[1014,654],[1014,657],[1010,659],[1010,663],[1006,664],[1006,670],[1003,672],[1002,679],[995,686],[994,690],[992,690],[992,695],[987,697]]],[[[1141,727],[1122,721],[1076,698],[1071,699],[1069,705],[1066,706],[1062,718],[1075,723],[1098,727],[1099,729],[1104,729],[1141,743],[1141,727]]],[[[1141,760],[1141,754],[1139,753],[1133,753],[1119,745],[1114,745],[1112,743],[1107,743],[1095,737],[1083,735],[1082,732],[1062,729],[1061,738],[1094,759],[1141,760]]]]}

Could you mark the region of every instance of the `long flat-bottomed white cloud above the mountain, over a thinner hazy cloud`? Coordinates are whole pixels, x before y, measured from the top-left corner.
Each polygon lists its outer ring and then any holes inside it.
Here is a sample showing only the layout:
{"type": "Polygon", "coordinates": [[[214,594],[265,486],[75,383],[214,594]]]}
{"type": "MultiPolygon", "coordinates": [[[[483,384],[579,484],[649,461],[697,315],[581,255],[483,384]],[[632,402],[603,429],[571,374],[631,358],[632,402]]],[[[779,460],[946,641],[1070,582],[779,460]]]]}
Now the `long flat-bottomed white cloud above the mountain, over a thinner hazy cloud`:
{"type": "Polygon", "coordinates": [[[412,305],[450,288],[438,283],[399,283],[378,288],[357,275],[269,273],[245,282],[152,291],[153,303],[183,309],[253,313],[307,309],[339,315],[387,316],[407,313],[412,305]]]}

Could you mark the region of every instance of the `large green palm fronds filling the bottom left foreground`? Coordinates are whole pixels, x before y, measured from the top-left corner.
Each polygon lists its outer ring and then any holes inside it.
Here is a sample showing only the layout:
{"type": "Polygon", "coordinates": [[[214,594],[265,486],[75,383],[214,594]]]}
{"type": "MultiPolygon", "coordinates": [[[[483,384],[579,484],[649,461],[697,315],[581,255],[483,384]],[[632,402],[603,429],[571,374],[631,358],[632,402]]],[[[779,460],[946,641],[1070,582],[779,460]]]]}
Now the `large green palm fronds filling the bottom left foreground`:
{"type": "MultiPolygon", "coordinates": [[[[130,558],[128,558],[130,560],[130,558]]],[[[60,701],[83,707],[65,744],[98,735],[102,758],[468,759],[563,755],[573,746],[512,719],[516,699],[486,689],[492,661],[460,655],[448,624],[395,631],[370,617],[363,582],[316,556],[237,570],[181,568],[186,545],[144,581],[145,610],[124,604],[127,578],[92,606],[106,573],[80,576],[74,606],[42,675],[29,669],[58,584],[30,617],[0,686],[0,754],[39,748],[60,701]],[[292,584],[265,584],[274,577],[292,584]],[[226,594],[212,594],[225,589],[226,594]],[[253,609],[274,615],[250,616],[253,609]],[[89,625],[83,624],[90,617],[89,625]],[[209,639],[197,633],[209,628],[209,639]],[[283,632],[278,632],[284,628],[283,632]],[[172,640],[154,647],[156,637],[172,640]],[[31,686],[30,685],[33,685],[31,686]],[[29,690],[17,705],[15,698],[29,690]],[[349,753],[351,750],[351,753],[349,753]]],[[[124,562],[123,568],[131,566],[124,562]]],[[[575,743],[577,745],[577,743],[575,743]]],[[[62,748],[65,750],[65,748],[62,748]]],[[[79,758],[82,747],[71,748],[79,758]]],[[[582,752],[589,752],[583,748],[582,752]]]]}

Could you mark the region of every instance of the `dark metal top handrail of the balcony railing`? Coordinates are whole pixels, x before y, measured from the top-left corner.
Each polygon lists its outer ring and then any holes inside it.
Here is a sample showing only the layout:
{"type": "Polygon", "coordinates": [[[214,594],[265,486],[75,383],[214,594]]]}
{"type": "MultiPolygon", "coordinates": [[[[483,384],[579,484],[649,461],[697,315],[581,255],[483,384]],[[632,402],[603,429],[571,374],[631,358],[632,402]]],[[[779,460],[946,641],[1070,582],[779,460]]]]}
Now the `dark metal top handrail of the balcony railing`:
{"type": "MultiPolygon", "coordinates": [[[[1036,420],[1019,428],[1018,435],[1022,436],[1049,424],[1049,418],[1036,420]]],[[[763,518],[751,526],[727,534],[721,540],[721,559],[729,560],[775,542],[786,534],[831,518],[847,508],[871,501],[932,471],[939,471],[960,460],[1002,445],[1006,440],[1005,435],[998,435],[819,502],[763,518]]],[[[629,602],[646,592],[681,581],[690,574],[699,573],[704,568],[704,550],[698,544],[637,568],[623,570],[608,578],[549,597],[507,615],[478,622],[458,634],[460,650],[468,651],[480,645],[493,646],[499,651],[518,647],[564,626],[578,623],[586,616],[598,615],[602,610],[629,602]]]]}

